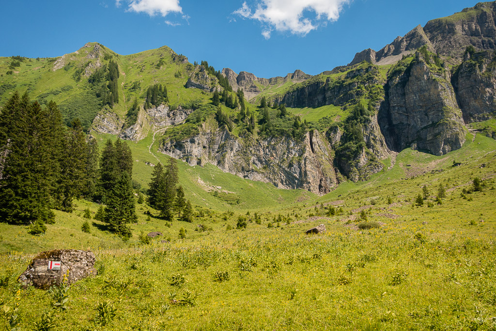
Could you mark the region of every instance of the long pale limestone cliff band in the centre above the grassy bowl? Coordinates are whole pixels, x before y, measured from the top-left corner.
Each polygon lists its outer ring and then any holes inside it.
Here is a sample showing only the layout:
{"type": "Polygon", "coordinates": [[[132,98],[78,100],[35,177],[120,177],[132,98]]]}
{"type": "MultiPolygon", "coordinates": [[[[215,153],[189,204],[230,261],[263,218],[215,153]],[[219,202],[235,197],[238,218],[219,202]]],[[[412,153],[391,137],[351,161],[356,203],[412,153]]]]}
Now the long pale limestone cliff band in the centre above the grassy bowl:
{"type": "Polygon", "coordinates": [[[317,131],[296,141],[290,137],[254,140],[203,126],[199,134],[182,141],[167,141],[159,151],[189,165],[208,162],[224,172],[272,183],[281,189],[326,194],[337,186],[329,142],[317,131]]]}

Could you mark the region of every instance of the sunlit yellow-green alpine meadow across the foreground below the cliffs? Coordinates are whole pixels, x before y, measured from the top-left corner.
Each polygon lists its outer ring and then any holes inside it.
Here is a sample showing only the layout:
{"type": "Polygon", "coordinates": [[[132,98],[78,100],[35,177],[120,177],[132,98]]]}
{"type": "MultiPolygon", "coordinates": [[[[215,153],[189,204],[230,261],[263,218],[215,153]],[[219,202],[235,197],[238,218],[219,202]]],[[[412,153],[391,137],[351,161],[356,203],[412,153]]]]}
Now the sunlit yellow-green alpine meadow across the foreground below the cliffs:
{"type": "MultiPolygon", "coordinates": [[[[146,160],[144,154],[134,157],[146,160]]],[[[56,225],[49,225],[42,237],[26,235],[23,227],[0,224],[2,251],[24,249],[24,253],[0,255],[0,275],[16,277],[31,254],[42,249],[91,248],[97,253],[99,265],[105,266],[102,273],[70,288],[69,308],[57,313],[54,330],[136,330],[138,326],[144,330],[473,330],[477,318],[478,330],[490,330],[490,317],[496,315],[495,158],[496,142],[480,134],[441,157],[406,149],[391,170],[369,182],[342,183],[324,197],[287,200],[281,206],[269,203],[264,210],[251,205],[251,215],[262,212],[262,224],[248,223],[247,230],[227,230],[245,210],[235,210],[223,220],[221,204],[212,205],[211,217],[205,214],[192,224],[174,221],[171,227],[158,219],[147,222],[146,208],[138,206],[135,236],[127,244],[102,231],[98,222],[91,235],[82,233],[79,215],[84,208],[94,212],[97,206],[79,201],[76,212],[57,213],[56,225]],[[462,165],[453,167],[453,160],[462,165]],[[475,176],[485,179],[484,192],[467,195],[472,201],[462,199],[460,191],[475,176]],[[442,205],[412,207],[408,202],[421,186],[434,192],[439,183],[447,189],[442,205]],[[388,196],[392,205],[386,203],[388,196]],[[372,199],[375,205],[370,206],[372,199]],[[320,203],[333,201],[343,206],[343,215],[308,218],[318,212],[320,203]],[[370,220],[385,223],[381,229],[357,231],[345,226],[363,205],[370,210],[370,220]],[[280,212],[302,222],[267,228],[280,212]],[[327,227],[325,235],[309,239],[302,234],[320,223],[327,227]],[[195,232],[196,224],[212,231],[195,232]],[[177,238],[180,227],[187,230],[184,240],[177,238]],[[137,242],[139,231],[152,230],[162,231],[172,243],[137,242]],[[248,257],[256,261],[250,271],[243,267],[248,257]],[[227,271],[230,279],[214,281],[219,270],[227,271]],[[170,285],[170,276],[177,273],[186,277],[182,288],[170,285]],[[123,296],[115,288],[103,288],[113,275],[129,282],[123,296]],[[193,307],[171,303],[167,293],[177,292],[179,299],[186,290],[201,294],[193,307]],[[117,308],[117,317],[105,328],[95,322],[96,301],[102,300],[117,308]]],[[[213,167],[181,165],[180,172],[188,190],[196,186],[197,176],[228,190],[249,188],[255,195],[268,190],[250,187],[255,183],[241,179],[238,183],[213,167]]],[[[135,172],[135,177],[146,176],[135,172]]],[[[193,190],[198,195],[202,191],[193,190]]],[[[0,303],[11,306],[15,290],[13,281],[0,289],[0,303]]],[[[45,291],[28,289],[20,292],[19,302],[21,326],[27,328],[53,299],[45,291]]]]}

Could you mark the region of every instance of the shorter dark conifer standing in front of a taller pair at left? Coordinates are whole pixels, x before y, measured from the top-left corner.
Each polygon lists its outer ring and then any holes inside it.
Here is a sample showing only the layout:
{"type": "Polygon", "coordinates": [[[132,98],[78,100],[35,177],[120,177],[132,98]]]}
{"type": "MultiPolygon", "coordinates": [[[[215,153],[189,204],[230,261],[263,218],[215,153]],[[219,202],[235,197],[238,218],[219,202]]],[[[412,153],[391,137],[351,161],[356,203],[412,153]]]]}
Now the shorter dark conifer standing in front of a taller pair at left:
{"type": "Polygon", "coordinates": [[[131,178],[124,172],[107,197],[105,222],[109,224],[111,231],[124,239],[128,239],[132,236],[128,224],[136,221],[137,216],[131,178]]]}

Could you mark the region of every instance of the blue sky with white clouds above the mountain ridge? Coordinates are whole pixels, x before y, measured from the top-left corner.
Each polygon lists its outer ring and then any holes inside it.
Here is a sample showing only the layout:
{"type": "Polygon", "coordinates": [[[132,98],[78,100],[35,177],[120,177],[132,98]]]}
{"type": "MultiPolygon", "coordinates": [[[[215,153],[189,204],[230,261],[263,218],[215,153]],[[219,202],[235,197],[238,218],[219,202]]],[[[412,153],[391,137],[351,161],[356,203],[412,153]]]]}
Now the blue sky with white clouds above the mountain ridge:
{"type": "Polygon", "coordinates": [[[468,0],[16,0],[1,1],[0,56],[56,57],[88,41],[119,54],[167,45],[259,77],[318,74],[381,49],[468,0]]]}

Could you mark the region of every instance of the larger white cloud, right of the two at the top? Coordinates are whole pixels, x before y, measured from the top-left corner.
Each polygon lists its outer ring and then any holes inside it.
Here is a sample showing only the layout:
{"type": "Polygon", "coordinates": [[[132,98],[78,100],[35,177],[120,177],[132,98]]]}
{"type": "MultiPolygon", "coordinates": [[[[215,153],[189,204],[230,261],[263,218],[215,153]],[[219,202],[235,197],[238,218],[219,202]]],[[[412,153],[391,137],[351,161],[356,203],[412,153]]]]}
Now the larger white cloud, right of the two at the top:
{"type": "Polygon", "coordinates": [[[336,21],[343,5],[352,0],[258,0],[253,10],[247,2],[234,11],[244,18],[258,20],[266,26],[262,35],[270,38],[272,29],[307,35],[319,24],[336,21]],[[311,15],[309,15],[311,13],[311,15]],[[304,15],[305,14],[305,15],[304,15]],[[305,17],[307,16],[307,17],[305,17]]]}

